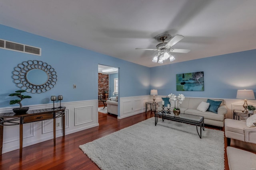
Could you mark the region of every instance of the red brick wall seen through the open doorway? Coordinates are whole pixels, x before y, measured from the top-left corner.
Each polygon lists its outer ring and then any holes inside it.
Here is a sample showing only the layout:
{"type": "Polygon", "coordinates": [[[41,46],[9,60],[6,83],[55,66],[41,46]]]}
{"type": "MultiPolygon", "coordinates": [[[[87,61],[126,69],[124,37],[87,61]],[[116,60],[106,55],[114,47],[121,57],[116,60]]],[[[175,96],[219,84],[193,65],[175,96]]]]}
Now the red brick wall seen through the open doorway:
{"type": "MultiPolygon", "coordinates": [[[[108,74],[98,73],[98,95],[102,95],[105,99],[104,89],[108,89],[108,74]]],[[[103,103],[99,101],[99,107],[103,106],[103,103]]]]}

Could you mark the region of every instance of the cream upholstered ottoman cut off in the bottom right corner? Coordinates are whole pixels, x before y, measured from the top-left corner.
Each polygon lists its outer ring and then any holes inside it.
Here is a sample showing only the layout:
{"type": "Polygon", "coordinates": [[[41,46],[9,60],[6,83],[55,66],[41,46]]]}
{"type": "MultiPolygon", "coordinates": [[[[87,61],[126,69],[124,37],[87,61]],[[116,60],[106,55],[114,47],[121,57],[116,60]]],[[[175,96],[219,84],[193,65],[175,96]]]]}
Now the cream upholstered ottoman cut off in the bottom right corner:
{"type": "Polygon", "coordinates": [[[230,170],[256,169],[256,154],[234,147],[227,147],[226,151],[230,170]]]}

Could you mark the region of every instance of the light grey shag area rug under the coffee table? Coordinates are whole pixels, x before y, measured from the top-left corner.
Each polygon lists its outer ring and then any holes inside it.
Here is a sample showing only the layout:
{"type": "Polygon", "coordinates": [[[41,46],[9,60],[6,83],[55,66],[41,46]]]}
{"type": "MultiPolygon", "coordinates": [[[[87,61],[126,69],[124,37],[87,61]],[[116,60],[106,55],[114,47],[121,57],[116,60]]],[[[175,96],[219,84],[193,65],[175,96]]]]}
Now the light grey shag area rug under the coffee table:
{"type": "Polygon", "coordinates": [[[154,117],[80,145],[102,170],[224,170],[224,132],[154,117]]]}

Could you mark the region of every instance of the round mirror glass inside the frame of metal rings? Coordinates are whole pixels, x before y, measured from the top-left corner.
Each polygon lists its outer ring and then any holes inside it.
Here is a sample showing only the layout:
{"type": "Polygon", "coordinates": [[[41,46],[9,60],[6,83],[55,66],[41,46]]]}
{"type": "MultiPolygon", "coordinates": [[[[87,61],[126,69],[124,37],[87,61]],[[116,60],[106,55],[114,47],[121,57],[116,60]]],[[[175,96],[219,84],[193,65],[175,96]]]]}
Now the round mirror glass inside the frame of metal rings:
{"type": "Polygon", "coordinates": [[[44,70],[32,69],[27,72],[26,78],[31,84],[40,86],[48,81],[48,74],[44,70]]]}

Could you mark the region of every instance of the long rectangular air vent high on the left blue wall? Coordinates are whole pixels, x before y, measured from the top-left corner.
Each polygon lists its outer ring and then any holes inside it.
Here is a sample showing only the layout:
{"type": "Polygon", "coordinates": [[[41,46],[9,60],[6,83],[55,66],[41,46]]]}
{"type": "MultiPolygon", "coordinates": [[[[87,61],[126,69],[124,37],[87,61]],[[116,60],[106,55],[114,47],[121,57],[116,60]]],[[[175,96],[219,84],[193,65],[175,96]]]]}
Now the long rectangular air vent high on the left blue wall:
{"type": "Polygon", "coordinates": [[[15,43],[4,39],[0,39],[0,49],[19,51],[22,53],[28,53],[33,55],[41,55],[41,48],[15,43]]]}

